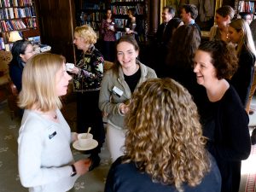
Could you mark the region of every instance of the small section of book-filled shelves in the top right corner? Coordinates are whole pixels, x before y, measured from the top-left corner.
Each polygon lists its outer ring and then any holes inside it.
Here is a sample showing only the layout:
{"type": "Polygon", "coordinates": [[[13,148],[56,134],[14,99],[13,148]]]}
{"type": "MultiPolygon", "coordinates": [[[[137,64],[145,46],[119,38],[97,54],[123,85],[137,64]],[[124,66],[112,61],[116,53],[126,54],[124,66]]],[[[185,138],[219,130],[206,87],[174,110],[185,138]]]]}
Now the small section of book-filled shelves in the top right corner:
{"type": "Polygon", "coordinates": [[[236,12],[237,14],[242,13],[256,13],[256,0],[238,0],[236,2],[236,12]]]}

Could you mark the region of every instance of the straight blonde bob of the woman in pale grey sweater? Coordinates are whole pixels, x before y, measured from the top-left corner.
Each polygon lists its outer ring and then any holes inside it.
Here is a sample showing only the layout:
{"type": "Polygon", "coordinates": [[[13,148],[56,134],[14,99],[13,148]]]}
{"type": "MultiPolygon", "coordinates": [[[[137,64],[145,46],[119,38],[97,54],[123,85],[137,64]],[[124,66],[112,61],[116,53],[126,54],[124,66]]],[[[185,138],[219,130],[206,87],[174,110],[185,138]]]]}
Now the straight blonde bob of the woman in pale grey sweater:
{"type": "Polygon", "coordinates": [[[62,55],[38,54],[26,62],[22,73],[22,89],[19,95],[19,107],[43,112],[61,108],[56,94],[56,73],[66,59],[62,55]]]}

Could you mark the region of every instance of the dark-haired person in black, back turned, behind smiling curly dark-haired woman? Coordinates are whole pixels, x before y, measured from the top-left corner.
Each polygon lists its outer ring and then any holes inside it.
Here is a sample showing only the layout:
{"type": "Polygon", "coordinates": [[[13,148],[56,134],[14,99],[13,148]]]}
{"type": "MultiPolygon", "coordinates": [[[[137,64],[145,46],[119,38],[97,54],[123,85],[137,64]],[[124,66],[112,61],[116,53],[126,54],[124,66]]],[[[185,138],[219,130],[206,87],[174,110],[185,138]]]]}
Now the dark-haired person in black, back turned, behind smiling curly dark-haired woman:
{"type": "Polygon", "coordinates": [[[198,108],[201,124],[204,125],[207,119],[212,116],[212,110],[206,90],[197,84],[193,72],[195,51],[200,43],[200,34],[195,26],[179,26],[168,45],[165,72],[166,77],[176,80],[189,90],[198,108]]]}

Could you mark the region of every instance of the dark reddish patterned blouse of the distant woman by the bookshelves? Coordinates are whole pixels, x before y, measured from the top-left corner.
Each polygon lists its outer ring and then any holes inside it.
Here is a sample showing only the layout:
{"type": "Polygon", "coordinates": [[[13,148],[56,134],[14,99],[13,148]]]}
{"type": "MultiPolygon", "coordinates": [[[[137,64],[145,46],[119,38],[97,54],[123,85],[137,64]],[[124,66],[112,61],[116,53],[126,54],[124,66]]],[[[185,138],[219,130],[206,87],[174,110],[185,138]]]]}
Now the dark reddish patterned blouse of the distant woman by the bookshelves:
{"type": "Polygon", "coordinates": [[[115,32],[116,32],[116,24],[111,20],[111,22],[108,22],[108,20],[102,20],[102,37],[104,41],[116,41],[115,38],[115,32]],[[108,30],[108,26],[113,26],[114,32],[112,30],[108,30]]]}

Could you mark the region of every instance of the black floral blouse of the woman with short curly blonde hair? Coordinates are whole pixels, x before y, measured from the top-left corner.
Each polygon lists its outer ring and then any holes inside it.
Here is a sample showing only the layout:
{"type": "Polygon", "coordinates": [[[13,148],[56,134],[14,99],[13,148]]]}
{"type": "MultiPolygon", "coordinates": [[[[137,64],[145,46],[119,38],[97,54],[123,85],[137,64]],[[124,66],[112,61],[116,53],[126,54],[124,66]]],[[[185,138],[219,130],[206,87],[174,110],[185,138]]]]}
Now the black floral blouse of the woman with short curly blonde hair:
{"type": "Polygon", "coordinates": [[[76,67],[79,74],[73,75],[75,92],[100,90],[103,78],[104,59],[100,51],[92,44],[86,53],[80,56],[76,67]]]}

